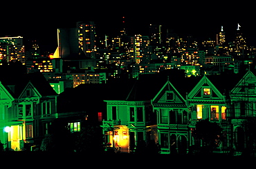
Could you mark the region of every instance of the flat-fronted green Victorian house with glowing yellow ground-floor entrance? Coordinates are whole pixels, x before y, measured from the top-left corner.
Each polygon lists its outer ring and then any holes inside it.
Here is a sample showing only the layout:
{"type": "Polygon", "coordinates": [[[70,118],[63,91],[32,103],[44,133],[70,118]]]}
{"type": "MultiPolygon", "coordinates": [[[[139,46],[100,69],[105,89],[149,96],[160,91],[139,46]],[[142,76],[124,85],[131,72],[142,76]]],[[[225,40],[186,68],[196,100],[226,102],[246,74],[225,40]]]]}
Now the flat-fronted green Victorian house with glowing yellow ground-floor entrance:
{"type": "Polygon", "coordinates": [[[104,100],[107,119],[102,127],[108,149],[133,152],[140,143],[158,141],[157,118],[151,100],[163,82],[159,77],[143,75],[124,85],[126,90],[121,90],[116,99],[104,100]]]}

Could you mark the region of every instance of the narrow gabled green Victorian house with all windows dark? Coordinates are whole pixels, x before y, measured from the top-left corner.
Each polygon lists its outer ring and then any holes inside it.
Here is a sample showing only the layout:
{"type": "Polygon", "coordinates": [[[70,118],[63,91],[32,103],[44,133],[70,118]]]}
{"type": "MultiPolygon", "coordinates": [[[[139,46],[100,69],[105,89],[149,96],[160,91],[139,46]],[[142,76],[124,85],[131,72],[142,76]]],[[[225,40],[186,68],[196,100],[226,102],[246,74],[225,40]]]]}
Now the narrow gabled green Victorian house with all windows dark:
{"type": "Polygon", "coordinates": [[[188,124],[191,119],[186,94],[196,79],[168,77],[167,82],[152,99],[158,128],[161,154],[186,154],[190,143],[188,124]]]}

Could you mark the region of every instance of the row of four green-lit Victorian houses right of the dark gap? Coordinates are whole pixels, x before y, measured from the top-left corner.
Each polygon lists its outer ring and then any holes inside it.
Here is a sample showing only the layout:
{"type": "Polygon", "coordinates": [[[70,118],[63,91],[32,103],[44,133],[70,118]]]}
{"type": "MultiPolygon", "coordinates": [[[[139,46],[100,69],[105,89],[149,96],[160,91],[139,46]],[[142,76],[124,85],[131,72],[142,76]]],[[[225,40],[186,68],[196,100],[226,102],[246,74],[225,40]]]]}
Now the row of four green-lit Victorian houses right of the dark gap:
{"type": "MultiPolygon", "coordinates": [[[[129,92],[104,100],[107,118],[102,128],[107,147],[129,153],[140,141],[154,140],[162,154],[185,154],[198,145],[192,135],[196,122],[209,119],[223,129],[223,139],[214,151],[239,154],[251,146],[247,124],[256,116],[255,82],[250,70],[196,78],[175,72],[141,76],[129,92]]],[[[200,141],[199,146],[203,146],[200,141]]]]}

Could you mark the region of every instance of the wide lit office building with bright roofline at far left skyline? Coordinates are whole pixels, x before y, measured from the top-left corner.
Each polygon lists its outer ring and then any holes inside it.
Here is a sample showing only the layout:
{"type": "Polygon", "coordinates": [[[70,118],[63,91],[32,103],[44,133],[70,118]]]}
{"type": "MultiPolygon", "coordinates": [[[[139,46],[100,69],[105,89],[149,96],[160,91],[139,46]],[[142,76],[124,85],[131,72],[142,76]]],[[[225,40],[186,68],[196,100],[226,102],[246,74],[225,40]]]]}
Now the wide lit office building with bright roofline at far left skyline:
{"type": "Polygon", "coordinates": [[[7,62],[18,60],[25,65],[26,58],[23,37],[1,37],[0,60],[6,60],[7,62]]]}

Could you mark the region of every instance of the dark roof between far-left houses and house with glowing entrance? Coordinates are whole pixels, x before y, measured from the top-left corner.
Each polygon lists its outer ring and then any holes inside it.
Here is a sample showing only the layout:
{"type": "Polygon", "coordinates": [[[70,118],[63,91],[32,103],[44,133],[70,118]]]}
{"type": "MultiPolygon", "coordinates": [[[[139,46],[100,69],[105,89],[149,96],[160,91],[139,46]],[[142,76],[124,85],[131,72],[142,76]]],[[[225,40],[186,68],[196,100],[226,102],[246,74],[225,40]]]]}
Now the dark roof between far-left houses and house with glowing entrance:
{"type": "Polygon", "coordinates": [[[104,112],[104,100],[125,100],[133,83],[134,79],[114,79],[105,84],[86,83],[76,88],[67,88],[57,98],[57,110],[104,112]]]}

